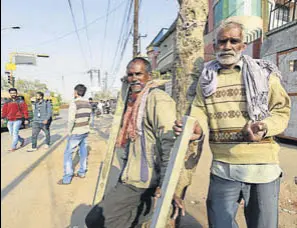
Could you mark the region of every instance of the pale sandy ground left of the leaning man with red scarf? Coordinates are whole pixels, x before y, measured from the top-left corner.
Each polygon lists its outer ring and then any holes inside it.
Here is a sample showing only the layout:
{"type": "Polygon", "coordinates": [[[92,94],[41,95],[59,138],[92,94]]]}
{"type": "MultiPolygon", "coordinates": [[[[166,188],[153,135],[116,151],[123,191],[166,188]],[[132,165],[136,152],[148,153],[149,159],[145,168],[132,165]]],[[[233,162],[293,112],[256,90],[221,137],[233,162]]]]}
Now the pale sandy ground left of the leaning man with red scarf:
{"type": "MultiPolygon", "coordinates": [[[[104,132],[103,132],[104,133],[104,132]]],[[[106,136],[106,135],[105,135],[106,136]]],[[[88,172],[85,179],[58,185],[63,175],[64,140],[55,150],[26,153],[18,150],[1,161],[1,227],[83,228],[91,209],[106,140],[98,133],[88,138],[88,172]]],[[[78,156],[74,156],[76,169],[78,156]]]]}

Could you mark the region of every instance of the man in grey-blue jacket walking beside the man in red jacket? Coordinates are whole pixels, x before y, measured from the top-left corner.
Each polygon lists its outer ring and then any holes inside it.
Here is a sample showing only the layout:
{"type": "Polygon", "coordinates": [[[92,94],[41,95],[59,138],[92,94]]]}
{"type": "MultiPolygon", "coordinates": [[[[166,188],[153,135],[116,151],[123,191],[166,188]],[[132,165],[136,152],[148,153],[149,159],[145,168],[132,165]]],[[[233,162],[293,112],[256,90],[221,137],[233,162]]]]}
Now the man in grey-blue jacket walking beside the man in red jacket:
{"type": "Polygon", "coordinates": [[[40,131],[45,134],[45,148],[50,146],[50,124],[52,122],[52,105],[50,101],[44,100],[43,92],[36,93],[32,122],[32,147],[27,152],[37,150],[37,139],[40,131]]]}

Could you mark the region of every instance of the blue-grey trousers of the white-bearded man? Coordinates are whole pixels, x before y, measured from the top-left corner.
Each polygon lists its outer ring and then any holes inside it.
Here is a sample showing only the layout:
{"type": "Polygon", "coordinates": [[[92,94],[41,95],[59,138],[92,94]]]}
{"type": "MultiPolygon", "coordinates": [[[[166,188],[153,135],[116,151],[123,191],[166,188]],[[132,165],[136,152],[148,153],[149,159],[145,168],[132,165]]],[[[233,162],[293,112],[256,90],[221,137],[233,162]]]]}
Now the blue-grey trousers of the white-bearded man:
{"type": "Polygon", "coordinates": [[[210,175],[207,197],[211,228],[237,228],[235,216],[244,200],[248,228],[277,228],[280,178],[264,184],[249,184],[210,175]]]}

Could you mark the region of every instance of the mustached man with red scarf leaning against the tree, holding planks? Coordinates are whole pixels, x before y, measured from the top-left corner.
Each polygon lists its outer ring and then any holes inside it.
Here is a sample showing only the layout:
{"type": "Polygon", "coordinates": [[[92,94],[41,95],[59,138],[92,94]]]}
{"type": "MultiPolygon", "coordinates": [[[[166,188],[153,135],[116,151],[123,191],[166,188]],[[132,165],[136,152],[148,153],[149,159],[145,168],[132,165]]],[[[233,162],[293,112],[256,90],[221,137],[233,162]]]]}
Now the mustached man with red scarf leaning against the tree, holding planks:
{"type": "Polygon", "coordinates": [[[175,136],[174,100],[156,88],[150,63],[136,57],[127,65],[130,85],[117,149],[123,152],[123,169],[116,186],[86,217],[88,228],[128,228],[152,215],[154,195],[165,176],[175,136]]]}

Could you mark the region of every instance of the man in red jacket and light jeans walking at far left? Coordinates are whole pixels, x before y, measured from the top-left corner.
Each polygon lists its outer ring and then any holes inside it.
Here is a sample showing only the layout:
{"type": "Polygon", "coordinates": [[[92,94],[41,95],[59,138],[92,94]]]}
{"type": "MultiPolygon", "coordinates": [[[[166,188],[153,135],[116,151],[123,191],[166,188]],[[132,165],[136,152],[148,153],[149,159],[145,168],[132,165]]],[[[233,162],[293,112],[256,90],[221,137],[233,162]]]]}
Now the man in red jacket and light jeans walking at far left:
{"type": "Polygon", "coordinates": [[[21,143],[20,147],[24,146],[25,139],[19,136],[19,129],[22,125],[23,119],[24,124],[28,124],[28,106],[23,99],[18,97],[18,91],[15,88],[8,90],[11,99],[3,105],[1,122],[7,119],[7,128],[9,134],[12,136],[12,145],[9,151],[15,151],[18,142],[21,143]]]}

